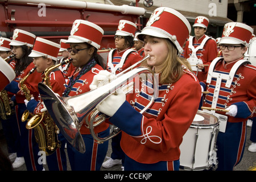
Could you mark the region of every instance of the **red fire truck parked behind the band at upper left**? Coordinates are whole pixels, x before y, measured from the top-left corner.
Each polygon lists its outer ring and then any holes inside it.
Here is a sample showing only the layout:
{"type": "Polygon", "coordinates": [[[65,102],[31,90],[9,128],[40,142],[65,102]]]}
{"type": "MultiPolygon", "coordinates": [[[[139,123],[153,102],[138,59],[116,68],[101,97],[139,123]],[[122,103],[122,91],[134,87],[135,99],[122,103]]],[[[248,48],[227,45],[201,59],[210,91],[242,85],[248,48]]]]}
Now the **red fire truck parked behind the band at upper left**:
{"type": "Polygon", "coordinates": [[[93,22],[103,28],[100,49],[114,48],[119,20],[134,22],[142,29],[142,7],[115,6],[68,0],[0,0],[0,36],[10,38],[15,28],[59,43],[67,39],[76,19],[93,22]]]}

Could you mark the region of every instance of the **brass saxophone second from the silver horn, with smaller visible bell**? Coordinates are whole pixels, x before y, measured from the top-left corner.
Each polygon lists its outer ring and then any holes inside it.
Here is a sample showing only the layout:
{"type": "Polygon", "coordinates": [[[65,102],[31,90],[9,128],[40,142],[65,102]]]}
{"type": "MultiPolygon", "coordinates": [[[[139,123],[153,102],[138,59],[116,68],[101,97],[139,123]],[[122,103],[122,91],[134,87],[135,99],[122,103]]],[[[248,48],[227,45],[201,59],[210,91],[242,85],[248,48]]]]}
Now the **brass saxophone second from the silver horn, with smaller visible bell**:
{"type": "MultiPolygon", "coordinates": [[[[28,90],[27,86],[24,84],[24,82],[27,80],[27,78],[34,73],[36,70],[35,68],[32,68],[31,71],[22,78],[22,80],[19,81],[19,86],[20,89],[23,91],[23,93],[25,94],[26,100],[30,101],[31,100],[31,94],[30,94],[30,90],[28,90]]],[[[30,111],[25,110],[24,113],[22,114],[22,122],[26,121],[28,117],[31,116],[30,111]]]]}

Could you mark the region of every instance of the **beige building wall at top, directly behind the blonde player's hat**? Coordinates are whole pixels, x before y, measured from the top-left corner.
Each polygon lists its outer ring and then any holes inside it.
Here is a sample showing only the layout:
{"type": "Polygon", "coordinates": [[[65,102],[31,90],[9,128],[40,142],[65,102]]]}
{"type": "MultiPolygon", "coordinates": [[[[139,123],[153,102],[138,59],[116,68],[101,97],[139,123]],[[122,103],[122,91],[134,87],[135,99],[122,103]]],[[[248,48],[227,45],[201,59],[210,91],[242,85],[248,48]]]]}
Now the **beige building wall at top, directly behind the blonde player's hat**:
{"type": "MultiPolygon", "coordinates": [[[[134,5],[144,7],[148,14],[151,14],[157,7],[171,7],[183,14],[192,24],[195,22],[196,16],[205,16],[210,20],[207,35],[213,38],[218,38],[222,35],[222,30],[225,23],[232,22],[228,15],[228,0],[152,0],[153,6],[146,7],[143,5],[144,0],[110,0],[114,5],[134,5]]],[[[108,3],[107,1],[105,1],[108,3]]],[[[141,21],[141,24],[146,24],[146,21],[141,21]]],[[[193,28],[191,35],[193,36],[193,28]]]]}

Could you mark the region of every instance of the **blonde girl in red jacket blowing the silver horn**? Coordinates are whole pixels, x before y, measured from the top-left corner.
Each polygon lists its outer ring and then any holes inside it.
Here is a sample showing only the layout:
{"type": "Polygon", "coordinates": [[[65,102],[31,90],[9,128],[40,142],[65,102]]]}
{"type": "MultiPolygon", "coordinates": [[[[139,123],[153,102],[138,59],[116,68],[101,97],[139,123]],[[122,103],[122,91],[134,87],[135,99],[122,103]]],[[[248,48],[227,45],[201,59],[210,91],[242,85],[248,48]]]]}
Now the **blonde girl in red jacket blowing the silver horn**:
{"type": "Polygon", "coordinates": [[[152,84],[144,82],[141,92],[126,97],[118,89],[118,94],[111,94],[96,106],[122,130],[125,170],[179,169],[179,146],[201,97],[199,81],[189,71],[187,60],[179,57],[190,31],[188,20],[179,12],[157,8],[138,39],[145,42],[145,54],[150,55],[142,65],[159,76],[158,97],[146,112],[139,113],[152,97],[145,92],[152,84]]]}

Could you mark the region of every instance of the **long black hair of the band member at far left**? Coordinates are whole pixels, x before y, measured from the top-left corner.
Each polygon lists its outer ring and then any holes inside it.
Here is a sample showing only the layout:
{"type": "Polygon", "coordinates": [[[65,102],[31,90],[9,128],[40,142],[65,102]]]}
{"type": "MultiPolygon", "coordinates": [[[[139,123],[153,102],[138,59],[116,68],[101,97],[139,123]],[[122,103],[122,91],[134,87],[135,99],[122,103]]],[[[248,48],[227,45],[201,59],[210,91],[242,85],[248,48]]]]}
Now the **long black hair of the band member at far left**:
{"type": "Polygon", "coordinates": [[[16,59],[15,73],[16,76],[20,74],[27,66],[33,61],[32,57],[28,57],[30,55],[32,48],[28,46],[20,46],[22,48],[23,56],[21,59],[16,59]]]}

